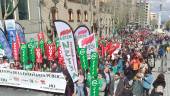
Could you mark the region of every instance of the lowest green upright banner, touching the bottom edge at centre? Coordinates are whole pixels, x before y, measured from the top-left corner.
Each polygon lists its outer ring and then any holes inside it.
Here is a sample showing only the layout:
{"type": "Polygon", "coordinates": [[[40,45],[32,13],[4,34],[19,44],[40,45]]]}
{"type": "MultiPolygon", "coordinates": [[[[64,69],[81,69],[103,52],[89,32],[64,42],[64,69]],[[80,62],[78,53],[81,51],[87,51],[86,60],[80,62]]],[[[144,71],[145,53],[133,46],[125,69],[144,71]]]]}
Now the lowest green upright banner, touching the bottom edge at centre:
{"type": "Polygon", "coordinates": [[[92,79],[90,84],[90,96],[99,96],[98,79],[92,79]]]}

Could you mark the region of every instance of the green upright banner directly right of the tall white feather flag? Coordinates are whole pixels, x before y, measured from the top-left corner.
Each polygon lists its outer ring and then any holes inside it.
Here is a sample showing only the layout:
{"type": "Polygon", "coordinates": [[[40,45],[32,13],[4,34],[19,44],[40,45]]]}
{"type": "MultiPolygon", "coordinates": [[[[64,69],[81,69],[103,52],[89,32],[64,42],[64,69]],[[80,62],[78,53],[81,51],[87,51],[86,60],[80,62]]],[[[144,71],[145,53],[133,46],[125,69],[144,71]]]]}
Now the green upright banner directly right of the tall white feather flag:
{"type": "Polygon", "coordinates": [[[82,69],[86,71],[88,69],[87,49],[79,48],[78,50],[79,50],[80,63],[81,63],[82,69]]]}

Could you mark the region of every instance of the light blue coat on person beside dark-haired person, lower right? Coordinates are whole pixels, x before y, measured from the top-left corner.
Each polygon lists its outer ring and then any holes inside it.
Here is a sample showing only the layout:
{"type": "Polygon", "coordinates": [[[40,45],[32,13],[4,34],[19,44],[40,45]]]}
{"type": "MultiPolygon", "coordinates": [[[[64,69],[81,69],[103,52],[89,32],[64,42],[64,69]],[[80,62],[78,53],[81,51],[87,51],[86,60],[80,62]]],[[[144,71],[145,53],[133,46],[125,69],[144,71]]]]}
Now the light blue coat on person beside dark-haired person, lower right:
{"type": "Polygon", "coordinates": [[[146,74],[143,78],[143,87],[146,89],[151,89],[154,77],[152,74],[146,74]]]}

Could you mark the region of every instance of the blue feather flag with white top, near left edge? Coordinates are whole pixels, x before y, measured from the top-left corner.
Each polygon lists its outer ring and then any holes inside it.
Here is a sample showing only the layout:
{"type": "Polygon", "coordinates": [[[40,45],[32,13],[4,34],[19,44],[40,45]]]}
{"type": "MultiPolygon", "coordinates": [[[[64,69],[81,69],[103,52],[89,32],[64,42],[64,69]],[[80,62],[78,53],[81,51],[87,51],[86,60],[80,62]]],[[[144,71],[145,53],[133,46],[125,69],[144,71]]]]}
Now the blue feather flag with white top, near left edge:
{"type": "Polygon", "coordinates": [[[10,48],[12,48],[12,42],[16,40],[16,27],[15,27],[15,20],[14,19],[8,19],[5,20],[5,26],[8,36],[8,42],[10,48]]]}

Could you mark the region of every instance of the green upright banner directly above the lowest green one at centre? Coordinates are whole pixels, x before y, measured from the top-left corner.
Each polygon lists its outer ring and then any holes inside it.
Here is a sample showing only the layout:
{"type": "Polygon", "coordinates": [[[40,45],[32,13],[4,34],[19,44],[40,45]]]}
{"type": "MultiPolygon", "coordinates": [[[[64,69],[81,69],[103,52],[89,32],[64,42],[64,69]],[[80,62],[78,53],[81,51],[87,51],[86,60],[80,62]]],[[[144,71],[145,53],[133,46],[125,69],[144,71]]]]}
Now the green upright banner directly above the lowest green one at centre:
{"type": "Polygon", "coordinates": [[[92,78],[97,77],[98,59],[98,53],[92,52],[90,60],[90,75],[92,78]]]}

